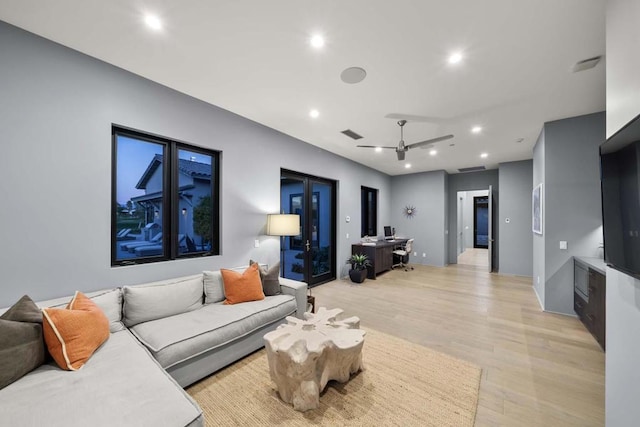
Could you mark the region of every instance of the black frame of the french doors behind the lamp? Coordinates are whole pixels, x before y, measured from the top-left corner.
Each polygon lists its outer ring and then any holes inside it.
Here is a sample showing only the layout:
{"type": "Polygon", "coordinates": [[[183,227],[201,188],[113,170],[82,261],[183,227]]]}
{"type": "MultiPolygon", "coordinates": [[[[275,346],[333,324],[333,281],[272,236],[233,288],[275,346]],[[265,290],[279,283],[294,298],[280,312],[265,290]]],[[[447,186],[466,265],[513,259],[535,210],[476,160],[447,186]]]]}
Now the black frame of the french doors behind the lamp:
{"type": "MultiPolygon", "coordinates": [[[[302,181],[303,187],[303,209],[305,218],[300,218],[300,225],[302,227],[302,244],[303,244],[303,252],[304,253],[304,272],[303,281],[307,283],[309,287],[313,287],[316,285],[320,285],[322,283],[329,282],[331,280],[335,280],[337,277],[337,262],[336,262],[336,252],[337,252],[337,238],[336,238],[336,227],[337,227],[337,182],[335,180],[329,178],[322,178],[313,175],[304,174],[301,172],[296,172],[288,169],[280,169],[280,178],[291,178],[295,180],[302,181]],[[331,227],[330,227],[330,257],[329,263],[330,268],[329,271],[323,275],[314,277],[313,276],[313,262],[311,259],[312,251],[310,250],[310,246],[306,245],[306,243],[311,243],[312,234],[312,209],[311,206],[313,204],[313,184],[319,183],[324,185],[331,186],[331,227]],[[309,248],[309,249],[306,249],[309,248]],[[306,249],[306,250],[305,250],[306,249]]],[[[280,197],[282,198],[282,187],[280,188],[280,197]]],[[[280,200],[280,206],[282,207],[283,200],[280,200]]],[[[286,273],[285,273],[286,274],[286,273]]]]}

